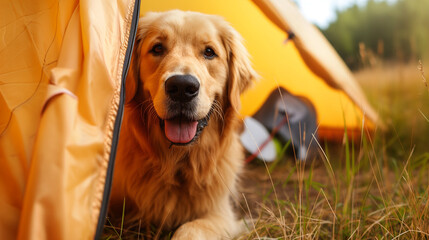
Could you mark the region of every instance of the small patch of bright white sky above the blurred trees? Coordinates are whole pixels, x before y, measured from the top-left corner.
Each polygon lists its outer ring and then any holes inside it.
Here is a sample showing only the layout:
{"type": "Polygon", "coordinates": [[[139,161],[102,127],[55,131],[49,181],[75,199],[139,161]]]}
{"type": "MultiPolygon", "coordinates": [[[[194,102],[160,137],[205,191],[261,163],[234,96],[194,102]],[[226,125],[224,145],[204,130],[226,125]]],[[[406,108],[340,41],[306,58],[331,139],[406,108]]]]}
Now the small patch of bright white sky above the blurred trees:
{"type": "Polygon", "coordinates": [[[336,9],[346,9],[353,4],[362,6],[367,0],[295,0],[295,2],[310,22],[326,28],[335,20],[336,9]]]}

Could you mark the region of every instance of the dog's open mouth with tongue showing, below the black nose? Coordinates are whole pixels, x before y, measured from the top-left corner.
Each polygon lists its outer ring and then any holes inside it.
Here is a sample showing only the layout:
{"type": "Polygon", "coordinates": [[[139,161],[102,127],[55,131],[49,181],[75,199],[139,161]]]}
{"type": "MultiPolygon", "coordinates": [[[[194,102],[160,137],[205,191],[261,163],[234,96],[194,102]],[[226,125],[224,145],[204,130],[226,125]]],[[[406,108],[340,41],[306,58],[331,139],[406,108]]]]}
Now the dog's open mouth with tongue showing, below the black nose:
{"type": "Polygon", "coordinates": [[[179,115],[170,119],[161,119],[161,129],[173,145],[188,145],[195,141],[207,126],[211,111],[200,120],[187,118],[179,115]]]}

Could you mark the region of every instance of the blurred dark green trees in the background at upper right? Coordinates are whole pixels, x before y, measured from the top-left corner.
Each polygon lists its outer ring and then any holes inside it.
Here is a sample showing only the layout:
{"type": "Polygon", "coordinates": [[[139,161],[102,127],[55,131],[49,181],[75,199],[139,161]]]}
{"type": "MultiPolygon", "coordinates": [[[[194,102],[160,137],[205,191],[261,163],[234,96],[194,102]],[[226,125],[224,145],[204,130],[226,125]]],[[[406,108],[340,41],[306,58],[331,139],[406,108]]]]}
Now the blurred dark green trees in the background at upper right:
{"type": "Polygon", "coordinates": [[[429,57],[429,0],[369,0],[321,29],[352,70],[429,57]]]}

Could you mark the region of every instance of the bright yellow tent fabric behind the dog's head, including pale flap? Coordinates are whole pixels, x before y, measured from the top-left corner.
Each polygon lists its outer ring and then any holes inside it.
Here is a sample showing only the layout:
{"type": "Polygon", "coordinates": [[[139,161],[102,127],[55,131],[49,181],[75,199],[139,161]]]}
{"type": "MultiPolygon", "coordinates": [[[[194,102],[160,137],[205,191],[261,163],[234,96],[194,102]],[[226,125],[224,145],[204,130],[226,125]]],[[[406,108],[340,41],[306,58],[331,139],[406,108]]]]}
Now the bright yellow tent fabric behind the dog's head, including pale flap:
{"type": "Polygon", "coordinates": [[[159,0],[141,4],[141,14],[170,9],[221,15],[241,33],[261,75],[241,98],[242,115],[254,114],[280,86],[310,100],[322,138],[342,138],[344,124],[361,129],[364,115],[370,127],[378,122],[350,70],[289,0],[159,0]],[[295,38],[285,44],[289,31],[295,38]]]}

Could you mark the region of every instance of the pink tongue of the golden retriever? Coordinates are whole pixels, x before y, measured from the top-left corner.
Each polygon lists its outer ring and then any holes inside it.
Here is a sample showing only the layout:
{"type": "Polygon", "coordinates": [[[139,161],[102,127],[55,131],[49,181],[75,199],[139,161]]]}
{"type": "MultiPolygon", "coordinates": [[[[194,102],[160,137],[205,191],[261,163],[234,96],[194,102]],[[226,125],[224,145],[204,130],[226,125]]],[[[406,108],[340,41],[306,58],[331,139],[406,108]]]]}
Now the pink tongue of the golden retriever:
{"type": "Polygon", "coordinates": [[[165,136],[173,143],[188,143],[197,133],[197,121],[165,120],[165,136]]]}

